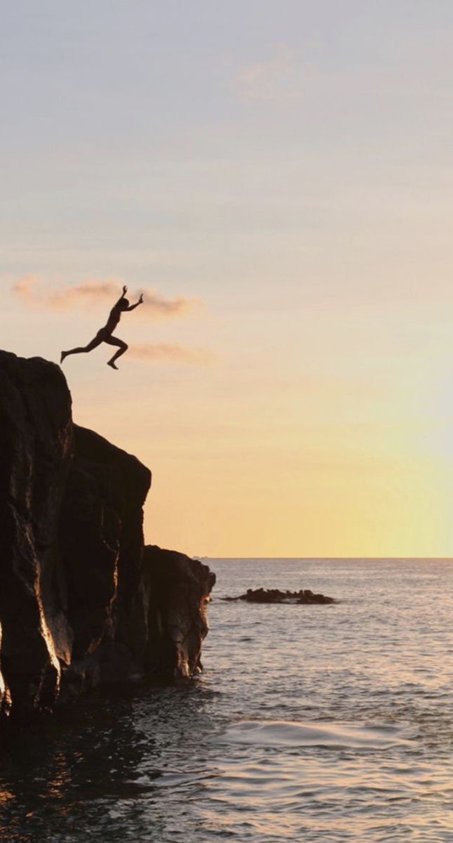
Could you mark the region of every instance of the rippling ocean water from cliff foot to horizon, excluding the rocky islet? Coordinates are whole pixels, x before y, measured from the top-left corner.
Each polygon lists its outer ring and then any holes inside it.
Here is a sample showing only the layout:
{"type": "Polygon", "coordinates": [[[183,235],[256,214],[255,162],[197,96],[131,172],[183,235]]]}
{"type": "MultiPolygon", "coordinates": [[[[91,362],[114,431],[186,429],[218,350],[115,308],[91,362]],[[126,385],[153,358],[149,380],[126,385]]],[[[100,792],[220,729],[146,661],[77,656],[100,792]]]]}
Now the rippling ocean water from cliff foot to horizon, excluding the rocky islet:
{"type": "Polygon", "coordinates": [[[0,761],[8,843],[453,841],[453,561],[216,560],[205,673],[0,761]],[[222,602],[311,588],[327,606],[222,602]]]}

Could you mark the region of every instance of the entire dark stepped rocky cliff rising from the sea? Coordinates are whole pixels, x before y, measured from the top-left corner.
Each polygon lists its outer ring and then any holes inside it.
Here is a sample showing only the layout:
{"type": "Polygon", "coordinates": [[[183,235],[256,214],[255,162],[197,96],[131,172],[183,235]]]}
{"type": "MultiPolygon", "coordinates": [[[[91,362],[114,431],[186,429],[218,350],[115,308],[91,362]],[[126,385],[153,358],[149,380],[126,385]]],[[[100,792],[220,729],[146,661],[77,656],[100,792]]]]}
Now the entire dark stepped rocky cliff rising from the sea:
{"type": "Polygon", "coordinates": [[[72,422],[61,369],[0,352],[0,721],[192,676],[215,576],[143,545],[151,473],[72,422]]]}

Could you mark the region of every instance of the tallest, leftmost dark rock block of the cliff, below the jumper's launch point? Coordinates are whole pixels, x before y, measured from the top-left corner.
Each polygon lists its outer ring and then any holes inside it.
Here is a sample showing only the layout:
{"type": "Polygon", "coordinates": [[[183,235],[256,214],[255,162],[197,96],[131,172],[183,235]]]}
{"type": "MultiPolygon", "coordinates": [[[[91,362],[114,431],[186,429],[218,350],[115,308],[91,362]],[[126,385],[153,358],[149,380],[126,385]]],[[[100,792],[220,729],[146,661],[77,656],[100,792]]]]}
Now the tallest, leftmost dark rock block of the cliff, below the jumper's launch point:
{"type": "Polygon", "coordinates": [[[72,448],[71,396],[60,369],[0,352],[1,658],[11,698],[24,708],[55,702],[61,663],[71,658],[58,514],[72,448]]]}

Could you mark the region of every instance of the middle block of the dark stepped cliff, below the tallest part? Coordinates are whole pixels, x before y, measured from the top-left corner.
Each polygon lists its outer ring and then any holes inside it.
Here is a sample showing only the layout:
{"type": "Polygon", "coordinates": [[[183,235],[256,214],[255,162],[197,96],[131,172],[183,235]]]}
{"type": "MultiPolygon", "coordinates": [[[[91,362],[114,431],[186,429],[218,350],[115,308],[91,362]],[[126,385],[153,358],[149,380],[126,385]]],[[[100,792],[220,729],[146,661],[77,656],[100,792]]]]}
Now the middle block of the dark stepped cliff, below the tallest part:
{"type": "Polygon", "coordinates": [[[74,443],[60,519],[73,659],[90,681],[113,682],[140,674],[143,663],[142,507],[151,472],[77,425],[74,443]]]}

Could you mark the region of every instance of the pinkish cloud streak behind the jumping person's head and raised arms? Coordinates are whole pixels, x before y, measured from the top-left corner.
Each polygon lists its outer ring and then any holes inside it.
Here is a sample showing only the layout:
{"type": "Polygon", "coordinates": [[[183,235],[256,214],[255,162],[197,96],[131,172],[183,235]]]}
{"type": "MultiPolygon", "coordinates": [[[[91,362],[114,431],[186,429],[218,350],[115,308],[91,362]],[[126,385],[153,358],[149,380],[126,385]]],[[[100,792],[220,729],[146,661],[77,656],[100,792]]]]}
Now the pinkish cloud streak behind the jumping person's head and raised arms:
{"type": "MultiPolygon", "coordinates": [[[[27,276],[13,285],[13,293],[25,303],[34,307],[50,310],[69,310],[73,307],[91,308],[96,304],[111,307],[120,298],[123,282],[115,280],[98,281],[89,279],[75,287],[51,287],[35,276],[27,276]]],[[[143,304],[137,310],[148,319],[159,317],[184,316],[200,307],[200,300],[195,298],[167,298],[157,293],[152,287],[141,288],[136,294],[143,293],[143,304]]],[[[135,298],[126,293],[128,298],[135,298]]]]}

